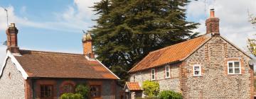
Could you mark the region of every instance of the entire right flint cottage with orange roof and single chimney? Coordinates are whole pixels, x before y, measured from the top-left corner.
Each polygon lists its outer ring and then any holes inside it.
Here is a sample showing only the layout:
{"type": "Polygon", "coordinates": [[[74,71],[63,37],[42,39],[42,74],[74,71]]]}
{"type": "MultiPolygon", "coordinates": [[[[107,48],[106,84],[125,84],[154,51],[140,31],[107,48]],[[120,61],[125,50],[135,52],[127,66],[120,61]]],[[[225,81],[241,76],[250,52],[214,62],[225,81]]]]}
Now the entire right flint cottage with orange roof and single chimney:
{"type": "Polygon", "coordinates": [[[212,9],[206,35],[150,52],[129,70],[129,81],[140,87],[145,80],[157,81],[161,91],[176,91],[186,99],[253,98],[251,59],[221,36],[212,9]]]}

